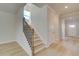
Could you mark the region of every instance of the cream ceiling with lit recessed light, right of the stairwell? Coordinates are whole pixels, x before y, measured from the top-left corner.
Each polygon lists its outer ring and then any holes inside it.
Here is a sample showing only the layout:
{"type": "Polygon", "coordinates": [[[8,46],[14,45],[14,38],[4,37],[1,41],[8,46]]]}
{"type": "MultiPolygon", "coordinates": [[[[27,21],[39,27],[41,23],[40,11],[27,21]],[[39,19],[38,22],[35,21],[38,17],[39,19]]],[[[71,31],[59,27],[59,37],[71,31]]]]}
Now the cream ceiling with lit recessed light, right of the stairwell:
{"type": "Polygon", "coordinates": [[[51,6],[58,14],[61,15],[79,11],[79,3],[39,3],[36,5],[40,7],[46,4],[51,6]],[[65,6],[68,6],[68,8],[66,9],[65,6]]]}

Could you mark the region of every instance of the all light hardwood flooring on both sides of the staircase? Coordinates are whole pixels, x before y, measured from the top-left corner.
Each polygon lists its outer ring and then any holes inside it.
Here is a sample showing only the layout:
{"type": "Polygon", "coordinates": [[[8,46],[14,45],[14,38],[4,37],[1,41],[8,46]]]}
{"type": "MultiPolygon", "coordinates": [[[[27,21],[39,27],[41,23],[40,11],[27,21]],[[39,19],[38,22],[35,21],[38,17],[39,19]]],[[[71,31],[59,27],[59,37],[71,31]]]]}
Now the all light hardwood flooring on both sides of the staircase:
{"type": "MultiPolygon", "coordinates": [[[[53,43],[47,49],[40,51],[35,56],[79,56],[79,43],[74,39],[67,40],[66,46],[64,41],[53,43]],[[73,43],[72,43],[72,42],[73,43]],[[70,46],[72,45],[72,47],[70,46]],[[76,48],[76,50],[74,50],[76,48]]],[[[19,46],[17,42],[0,44],[0,56],[28,56],[27,53],[19,46]]]]}

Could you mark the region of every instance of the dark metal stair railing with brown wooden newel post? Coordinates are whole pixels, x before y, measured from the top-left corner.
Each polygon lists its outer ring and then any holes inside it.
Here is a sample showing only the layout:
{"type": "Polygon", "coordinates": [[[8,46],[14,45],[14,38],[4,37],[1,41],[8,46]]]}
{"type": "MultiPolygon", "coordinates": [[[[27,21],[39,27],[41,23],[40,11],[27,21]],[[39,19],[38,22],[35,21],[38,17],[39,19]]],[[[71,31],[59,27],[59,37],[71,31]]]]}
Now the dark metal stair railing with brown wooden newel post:
{"type": "Polygon", "coordinates": [[[23,32],[27,38],[27,41],[28,41],[28,43],[32,49],[32,53],[33,53],[33,51],[34,51],[34,48],[33,48],[34,29],[32,27],[30,27],[30,25],[25,21],[25,18],[23,18],[23,32]]]}

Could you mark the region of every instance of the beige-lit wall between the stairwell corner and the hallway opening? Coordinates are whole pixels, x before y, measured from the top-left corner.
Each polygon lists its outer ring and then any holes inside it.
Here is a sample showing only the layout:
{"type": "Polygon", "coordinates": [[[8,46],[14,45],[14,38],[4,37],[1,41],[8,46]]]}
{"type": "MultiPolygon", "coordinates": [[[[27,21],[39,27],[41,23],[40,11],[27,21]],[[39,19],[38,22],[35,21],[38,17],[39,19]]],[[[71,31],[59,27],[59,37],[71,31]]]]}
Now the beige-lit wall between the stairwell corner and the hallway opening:
{"type": "Polygon", "coordinates": [[[48,6],[49,39],[48,44],[59,40],[59,15],[48,6]]]}

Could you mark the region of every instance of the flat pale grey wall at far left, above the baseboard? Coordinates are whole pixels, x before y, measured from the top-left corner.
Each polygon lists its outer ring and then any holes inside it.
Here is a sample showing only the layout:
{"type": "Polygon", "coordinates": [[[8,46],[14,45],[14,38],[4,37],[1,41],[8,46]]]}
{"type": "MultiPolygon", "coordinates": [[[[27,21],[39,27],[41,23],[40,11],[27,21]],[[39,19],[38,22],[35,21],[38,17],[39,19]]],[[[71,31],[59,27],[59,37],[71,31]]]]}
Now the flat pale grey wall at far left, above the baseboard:
{"type": "Polygon", "coordinates": [[[15,15],[0,11],[0,44],[15,40],[16,40],[15,15]]]}

